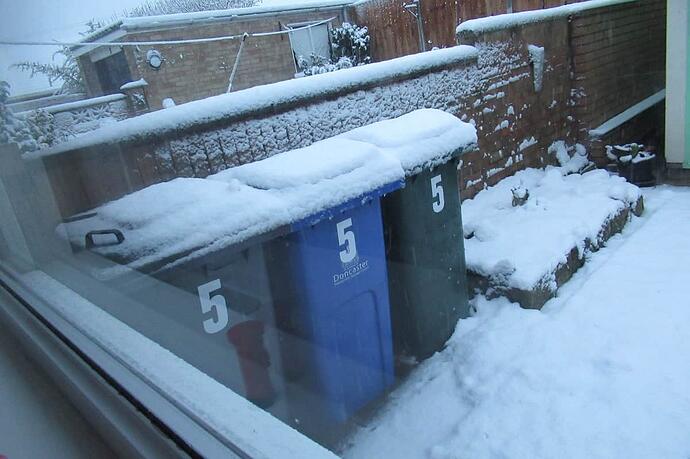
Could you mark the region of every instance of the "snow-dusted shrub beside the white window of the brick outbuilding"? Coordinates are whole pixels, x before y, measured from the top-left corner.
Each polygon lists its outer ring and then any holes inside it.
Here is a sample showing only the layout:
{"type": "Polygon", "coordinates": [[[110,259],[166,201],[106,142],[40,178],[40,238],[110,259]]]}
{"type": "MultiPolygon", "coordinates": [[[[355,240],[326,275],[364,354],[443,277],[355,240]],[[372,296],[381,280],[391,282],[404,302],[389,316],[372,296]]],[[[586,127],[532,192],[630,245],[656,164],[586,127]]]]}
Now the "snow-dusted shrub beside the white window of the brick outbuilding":
{"type": "Polygon", "coordinates": [[[334,72],[371,62],[369,31],[349,22],[331,30],[331,56],[299,56],[297,65],[305,75],[334,72]]]}

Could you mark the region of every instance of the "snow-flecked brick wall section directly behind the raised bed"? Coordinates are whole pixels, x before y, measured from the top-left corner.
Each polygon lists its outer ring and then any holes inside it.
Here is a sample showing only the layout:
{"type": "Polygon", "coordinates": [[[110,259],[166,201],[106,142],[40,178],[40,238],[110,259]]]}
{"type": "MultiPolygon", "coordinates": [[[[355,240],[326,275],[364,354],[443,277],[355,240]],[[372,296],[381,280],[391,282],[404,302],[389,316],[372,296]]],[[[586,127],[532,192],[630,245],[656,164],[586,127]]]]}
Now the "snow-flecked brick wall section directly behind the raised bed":
{"type": "Polygon", "coordinates": [[[567,21],[487,34],[476,45],[481,48],[501,43],[508,44],[513,60],[487,63],[500,72],[482,84],[478,99],[469,101],[468,116],[477,121],[479,149],[463,158],[463,198],[474,196],[518,170],[553,162],[554,158],[547,153],[551,143],[572,141],[574,137],[572,122],[568,120],[571,68],[567,21]],[[540,91],[534,87],[528,44],[545,48],[547,65],[540,91]],[[505,95],[487,100],[497,94],[505,95]],[[481,103],[475,108],[476,100],[481,103]],[[508,127],[496,130],[503,121],[508,121],[508,127]],[[521,150],[520,145],[525,141],[523,145],[533,143],[532,138],[536,143],[521,150]]]}

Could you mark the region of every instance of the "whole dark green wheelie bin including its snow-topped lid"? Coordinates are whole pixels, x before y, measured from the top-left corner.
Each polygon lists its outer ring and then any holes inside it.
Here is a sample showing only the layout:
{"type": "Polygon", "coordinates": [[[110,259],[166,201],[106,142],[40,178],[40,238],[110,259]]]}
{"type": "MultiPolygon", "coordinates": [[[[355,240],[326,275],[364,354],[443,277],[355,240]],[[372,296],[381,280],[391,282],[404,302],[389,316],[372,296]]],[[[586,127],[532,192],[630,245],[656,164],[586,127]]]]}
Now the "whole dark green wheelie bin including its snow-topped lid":
{"type": "Polygon", "coordinates": [[[469,315],[458,164],[477,132],[450,113],[420,109],[342,134],[399,161],[405,186],[381,200],[393,351],[404,370],[443,348],[469,315]]]}

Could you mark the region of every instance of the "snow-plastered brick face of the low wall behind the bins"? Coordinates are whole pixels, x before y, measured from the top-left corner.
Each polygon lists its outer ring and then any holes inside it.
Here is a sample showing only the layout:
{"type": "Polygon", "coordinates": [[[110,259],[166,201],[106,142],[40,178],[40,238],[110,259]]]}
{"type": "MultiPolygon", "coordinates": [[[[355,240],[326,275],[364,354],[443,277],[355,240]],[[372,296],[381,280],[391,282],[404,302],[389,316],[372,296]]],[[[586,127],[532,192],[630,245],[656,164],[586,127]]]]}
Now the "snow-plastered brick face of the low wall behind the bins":
{"type": "MultiPolygon", "coordinates": [[[[206,163],[211,164],[199,169],[208,168],[213,173],[246,164],[420,108],[436,108],[457,115],[465,108],[464,100],[478,92],[486,79],[506,73],[517,61],[519,58],[509,55],[503,44],[487,44],[482,47],[477,65],[450,68],[265,118],[232,123],[204,133],[206,163]]],[[[190,134],[161,143],[154,148],[153,156],[164,163],[161,167],[177,169],[177,164],[182,164],[183,176],[208,175],[196,173],[187,166],[189,160],[205,161],[195,147],[197,137],[198,134],[190,134]],[[168,158],[173,162],[168,162],[168,158]]]]}

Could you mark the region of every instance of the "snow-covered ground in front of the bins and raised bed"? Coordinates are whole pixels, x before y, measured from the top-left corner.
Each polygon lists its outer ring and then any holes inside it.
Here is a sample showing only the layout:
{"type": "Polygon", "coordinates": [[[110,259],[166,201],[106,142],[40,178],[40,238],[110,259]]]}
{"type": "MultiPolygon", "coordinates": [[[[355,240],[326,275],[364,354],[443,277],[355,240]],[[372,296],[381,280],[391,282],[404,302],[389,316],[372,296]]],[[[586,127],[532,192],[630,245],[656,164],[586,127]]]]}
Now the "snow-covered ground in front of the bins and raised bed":
{"type": "Polygon", "coordinates": [[[541,312],[477,298],[345,457],[689,457],[690,189],[645,201],[541,312]]]}

